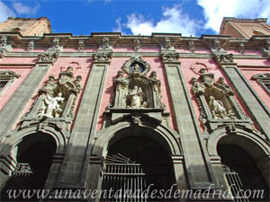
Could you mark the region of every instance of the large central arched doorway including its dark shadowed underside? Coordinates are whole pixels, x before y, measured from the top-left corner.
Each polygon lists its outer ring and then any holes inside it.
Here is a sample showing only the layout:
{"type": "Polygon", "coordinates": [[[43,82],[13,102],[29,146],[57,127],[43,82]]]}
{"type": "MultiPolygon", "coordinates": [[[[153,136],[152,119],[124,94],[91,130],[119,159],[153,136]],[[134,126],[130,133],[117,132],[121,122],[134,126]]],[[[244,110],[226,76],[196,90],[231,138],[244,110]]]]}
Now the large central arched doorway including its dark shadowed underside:
{"type": "Polygon", "coordinates": [[[103,195],[103,201],[177,200],[164,196],[177,189],[175,169],[169,146],[155,130],[126,127],[108,139],[106,147],[101,189],[111,189],[113,197],[103,195]]]}

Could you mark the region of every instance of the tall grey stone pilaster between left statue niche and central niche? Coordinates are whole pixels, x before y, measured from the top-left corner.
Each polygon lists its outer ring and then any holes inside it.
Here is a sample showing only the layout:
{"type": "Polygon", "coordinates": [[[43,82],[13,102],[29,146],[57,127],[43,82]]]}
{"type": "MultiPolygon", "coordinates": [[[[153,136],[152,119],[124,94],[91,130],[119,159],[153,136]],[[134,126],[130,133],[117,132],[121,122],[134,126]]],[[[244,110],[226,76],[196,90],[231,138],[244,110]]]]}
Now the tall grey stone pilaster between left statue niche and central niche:
{"type": "Polygon", "coordinates": [[[112,53],[94,53],[90,76],[83,92],[67,153],[55,189],[85,189],[91,145],[99,116],[108,66],[112,53]],[[105,57],[109,54],[110,57],[105,57]]]}

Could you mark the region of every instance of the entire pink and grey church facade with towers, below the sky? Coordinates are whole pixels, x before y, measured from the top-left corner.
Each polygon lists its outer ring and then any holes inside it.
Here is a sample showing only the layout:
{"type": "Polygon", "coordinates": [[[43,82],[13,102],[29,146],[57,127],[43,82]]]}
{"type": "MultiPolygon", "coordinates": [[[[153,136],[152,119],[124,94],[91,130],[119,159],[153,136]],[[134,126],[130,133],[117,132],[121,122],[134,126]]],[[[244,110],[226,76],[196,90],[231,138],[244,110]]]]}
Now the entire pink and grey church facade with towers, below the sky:
{"type": "Polygon", "coordinates": [[[3,201],[269,201],[266,21],[200,38],[2,22],[3,201]]]}

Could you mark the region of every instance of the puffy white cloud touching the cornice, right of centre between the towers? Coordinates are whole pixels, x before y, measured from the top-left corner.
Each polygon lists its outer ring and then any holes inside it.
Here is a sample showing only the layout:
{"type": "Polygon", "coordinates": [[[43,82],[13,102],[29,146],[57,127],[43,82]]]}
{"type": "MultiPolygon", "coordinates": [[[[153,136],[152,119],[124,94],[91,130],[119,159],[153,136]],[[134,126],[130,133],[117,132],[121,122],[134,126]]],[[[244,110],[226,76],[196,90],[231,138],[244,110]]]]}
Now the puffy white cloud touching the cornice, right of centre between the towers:
{"type": "Polygon", "coordinates": [[[130,29],[135,34],[151,35],[152,32],[182,33],[183,35],[195,35],[199,30],[199,22],[191,19],[183,13],[180,5],[163,9],[162,18],[158,22],[146,20],[143,15],[132,13],[128,16],[128,22],[121,27],[130,29]]]}

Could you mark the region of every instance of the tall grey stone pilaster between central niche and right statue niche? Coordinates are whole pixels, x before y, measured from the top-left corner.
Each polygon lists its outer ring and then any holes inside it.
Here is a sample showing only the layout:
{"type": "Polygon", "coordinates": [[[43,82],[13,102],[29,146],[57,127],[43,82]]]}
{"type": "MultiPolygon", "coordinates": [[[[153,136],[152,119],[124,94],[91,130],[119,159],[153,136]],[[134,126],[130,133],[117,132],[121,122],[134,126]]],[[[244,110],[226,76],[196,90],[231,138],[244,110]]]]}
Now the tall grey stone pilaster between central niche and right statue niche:
{"type": "Polygon", "coordinates": [[[167,81],[175,110],[176,125],[184,152],[184,164],[190,189],[216,188],[211,163],[203,145],[189,91],[184,83],[178,53],[162,53],[167,81]]]}

